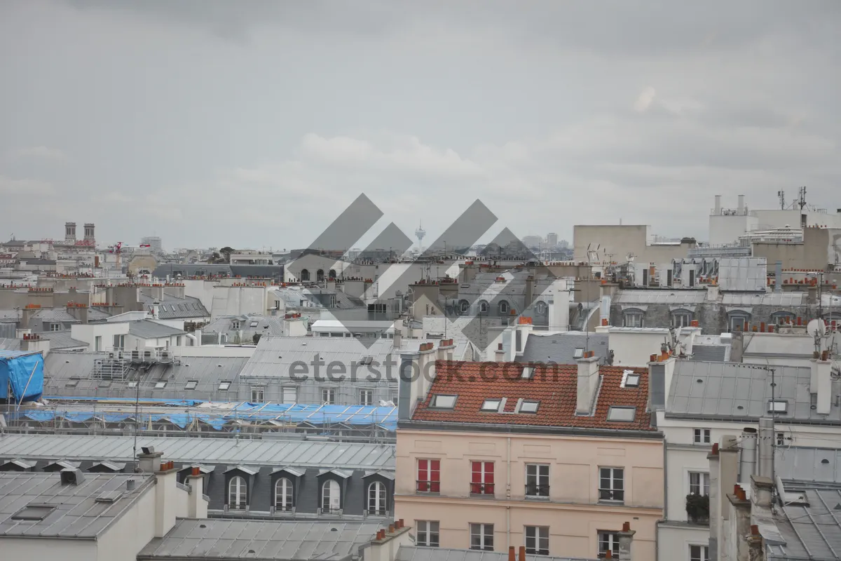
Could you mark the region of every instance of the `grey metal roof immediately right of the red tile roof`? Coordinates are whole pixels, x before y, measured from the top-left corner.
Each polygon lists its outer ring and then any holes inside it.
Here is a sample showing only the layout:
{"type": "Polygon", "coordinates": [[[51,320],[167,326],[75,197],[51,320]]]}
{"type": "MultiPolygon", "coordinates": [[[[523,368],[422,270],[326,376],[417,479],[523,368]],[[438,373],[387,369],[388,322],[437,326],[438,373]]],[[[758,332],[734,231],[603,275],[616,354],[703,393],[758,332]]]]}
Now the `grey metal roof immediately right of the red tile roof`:
{"type": "MultiPolygon", "coordinates": [[[[835,401],[828,415],[812,410],[811,368],[773,368],[775,399],[788,403],[787,412],[776,414],[780,422],[841,424],[841,407],[835,401]]],[[[838,392],[839,383],[833,380],[833,395],[838,392]]],[[[770,400],[771,374],[764,365],[679,360],[674,365],[666,416],[754,420],[768,415],[770,400]]]]}

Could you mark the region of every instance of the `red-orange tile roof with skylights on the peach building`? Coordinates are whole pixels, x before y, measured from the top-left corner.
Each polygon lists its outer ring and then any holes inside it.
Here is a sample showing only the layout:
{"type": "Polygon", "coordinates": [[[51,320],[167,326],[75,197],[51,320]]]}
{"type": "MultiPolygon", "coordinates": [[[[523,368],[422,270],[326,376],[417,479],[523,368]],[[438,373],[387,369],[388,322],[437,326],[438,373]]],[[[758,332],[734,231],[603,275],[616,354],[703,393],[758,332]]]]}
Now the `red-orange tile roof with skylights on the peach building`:
{"type": "Polygon", "coordinates": [[[498,425],[568,426],[579,428],[655,431],[648,406],[648,370],[600,366],[601,385],[595,415],[575,415],[578,367],[526,363],[460,363],[438,361],[429,394],[412,415],[412,421],[482,423],[498,425]],[[532,379],[521,378],[533,366],[532,379]],[[623,373],[640,375],[638,388],[622,388],[623,373]],[[430,408],[436,394],[458,395],[452,410],[430,408]],[[484,400],[507,398],[503,413],[480,411],[484,400]],[[514,413],[517,400],[538,400],[537,413],[514,413]],[[608,421],[611,405],[636,407],[631,422],[608,421]]]}

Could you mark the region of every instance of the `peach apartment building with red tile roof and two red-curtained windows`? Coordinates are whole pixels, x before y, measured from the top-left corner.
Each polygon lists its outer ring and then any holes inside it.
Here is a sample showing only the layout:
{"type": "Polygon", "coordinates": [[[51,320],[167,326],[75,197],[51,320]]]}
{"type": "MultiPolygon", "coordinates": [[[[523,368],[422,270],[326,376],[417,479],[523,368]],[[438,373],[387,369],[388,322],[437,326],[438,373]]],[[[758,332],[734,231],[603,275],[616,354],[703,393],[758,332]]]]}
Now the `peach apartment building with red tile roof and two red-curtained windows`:
{"type": "Polygon", "coordinates": [[[664,454],[645,369],[592,352],[571,366],[431,366],[433,352],[401,367],[394,505],[418,546],[616,558],[633,521],[635,555],[654,558],[664,454]],[[412,385],[408,368],[426,373],[412,385]]]}

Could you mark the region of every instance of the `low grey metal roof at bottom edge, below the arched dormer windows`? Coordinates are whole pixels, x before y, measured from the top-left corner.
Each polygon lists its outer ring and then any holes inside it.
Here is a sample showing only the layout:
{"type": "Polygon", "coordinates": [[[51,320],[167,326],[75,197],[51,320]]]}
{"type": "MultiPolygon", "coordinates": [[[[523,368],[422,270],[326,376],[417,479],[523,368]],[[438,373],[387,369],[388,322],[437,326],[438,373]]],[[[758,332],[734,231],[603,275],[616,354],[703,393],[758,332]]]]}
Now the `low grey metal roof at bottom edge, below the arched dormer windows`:
{"type": "Polygon", "coordinates": [[[138,559],[276,559],[343,561],[382,528],[376,522],[179,520],[138,559]]]}

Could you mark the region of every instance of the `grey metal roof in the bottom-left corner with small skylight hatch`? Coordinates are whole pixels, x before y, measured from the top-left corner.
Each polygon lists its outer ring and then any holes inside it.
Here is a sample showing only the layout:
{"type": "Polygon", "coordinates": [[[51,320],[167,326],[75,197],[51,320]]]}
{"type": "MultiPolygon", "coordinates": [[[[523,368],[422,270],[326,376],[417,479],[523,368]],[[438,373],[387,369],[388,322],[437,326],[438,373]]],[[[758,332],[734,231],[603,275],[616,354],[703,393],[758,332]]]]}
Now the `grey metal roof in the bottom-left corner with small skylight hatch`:
{"type": "MultiPolygon", "coordinates": [[[[151,489],[154,478],[140,474],[84,474],[81,485],[62,485],[60,473],[0,473],[0,538],[61,537],[94,539],[102,534],[128,505],[151,489]],[[135,479],[135,490],[126,481],[135,479]],[[113,503],[97,497],[116,490],[124,495],[113,503]],[[40,521],[13,520],[29,504],[56,508],[40,521]]],[[[0,541],[0,549],[2,549],[0,541]]]]}

